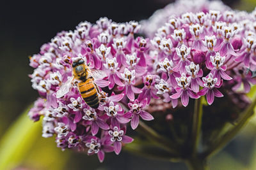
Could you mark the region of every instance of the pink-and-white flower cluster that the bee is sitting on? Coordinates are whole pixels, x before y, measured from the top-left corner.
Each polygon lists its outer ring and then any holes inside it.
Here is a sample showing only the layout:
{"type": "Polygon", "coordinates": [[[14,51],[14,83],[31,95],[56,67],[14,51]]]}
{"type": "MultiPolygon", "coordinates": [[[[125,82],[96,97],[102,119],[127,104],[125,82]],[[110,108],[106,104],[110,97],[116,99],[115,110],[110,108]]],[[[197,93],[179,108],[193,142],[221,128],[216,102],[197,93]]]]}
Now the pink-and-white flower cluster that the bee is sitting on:
{"type": "Polygon", "coordinates": [[[81,22],[74,31],[58,33],[41,47],[40,53],[30,57],[29,65],[35,70],[29,76],[40,98],[29,117],[38,121],[44,116],[43,137],[56,134],[57,146],[62,150],[97,153],[102,162],[105,152],[119,154],[125,143],[132,142],[125,135],[130,120],[136,129],[139,115],[144,120],[154,119],[143,111],[150,99],[136,99],[143,92],[136,82],[147,72],[149,45],[148,39],[134,38],[138,31],[140,25],[134,21],[118,24],[104,17],[97,24],[81,22]],[[72,61],[77,57],[91,69],[107,74],[104,80],[95,81],[100,96],[97,109],[84,102],[76,82],[70,84],[65,96],[56,97],[61,85],[72,76],[72,61]],[[131,107],[136,110],[129,111],[127,101],[134,103],[131,107]]]}

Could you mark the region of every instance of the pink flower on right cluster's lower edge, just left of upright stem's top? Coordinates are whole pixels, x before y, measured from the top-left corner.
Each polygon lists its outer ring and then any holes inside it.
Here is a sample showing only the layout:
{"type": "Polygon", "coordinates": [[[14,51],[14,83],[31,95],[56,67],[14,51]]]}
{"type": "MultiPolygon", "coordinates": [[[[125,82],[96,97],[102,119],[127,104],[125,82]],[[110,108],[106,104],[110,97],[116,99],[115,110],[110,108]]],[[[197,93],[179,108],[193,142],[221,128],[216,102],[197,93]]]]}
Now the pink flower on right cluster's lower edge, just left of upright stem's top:
{"type": "Polygon", "coordinates": [[[193,99],[198,99],[199,96],[194,94],[193,91],[189,88],[191,83],[191,76],[187,77],[185,73],[182,73],[180,78],[176,78],[178,86],[175,90],[177,91],[175,94],[170,96],[171,99],[181,98],[181,103],[183,106],[188,106],[189,97],[193,99]]]}

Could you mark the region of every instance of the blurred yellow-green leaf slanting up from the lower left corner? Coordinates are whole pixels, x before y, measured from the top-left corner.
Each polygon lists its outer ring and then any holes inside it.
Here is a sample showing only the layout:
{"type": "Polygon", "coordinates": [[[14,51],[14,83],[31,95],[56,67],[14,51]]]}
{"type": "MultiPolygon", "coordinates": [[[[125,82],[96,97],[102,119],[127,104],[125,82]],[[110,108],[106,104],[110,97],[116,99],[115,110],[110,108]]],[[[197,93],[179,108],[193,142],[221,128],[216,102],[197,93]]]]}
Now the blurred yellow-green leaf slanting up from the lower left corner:
{"type": "Polygon", "coordinates": [[[35,142],[34,135],[40,132],[40,123],[29,120],[28,110],[10,126],[0,141],[0,169],[17,166],[35,142]]]}

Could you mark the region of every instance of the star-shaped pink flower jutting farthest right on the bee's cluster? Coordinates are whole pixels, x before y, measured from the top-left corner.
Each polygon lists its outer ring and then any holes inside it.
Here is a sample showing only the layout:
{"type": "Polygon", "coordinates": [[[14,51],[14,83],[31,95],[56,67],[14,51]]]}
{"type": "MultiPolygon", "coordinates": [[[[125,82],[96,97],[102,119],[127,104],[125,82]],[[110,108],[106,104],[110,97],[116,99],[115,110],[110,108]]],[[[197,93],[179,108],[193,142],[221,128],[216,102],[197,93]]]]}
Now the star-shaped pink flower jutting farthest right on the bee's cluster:
{"type": "Polygon", "coordinates": [[[147,104],[147,99],[139,102],[137,99],[134,102],[128,103],[130,108],[129,112],[125,113],[124,117],[131,118],[131,127],[132,129],[136,129],[139,125],[139,117],[143,120],[153,120],[154,117],[150,115],[147,111],[144,111],[147,104]]]}

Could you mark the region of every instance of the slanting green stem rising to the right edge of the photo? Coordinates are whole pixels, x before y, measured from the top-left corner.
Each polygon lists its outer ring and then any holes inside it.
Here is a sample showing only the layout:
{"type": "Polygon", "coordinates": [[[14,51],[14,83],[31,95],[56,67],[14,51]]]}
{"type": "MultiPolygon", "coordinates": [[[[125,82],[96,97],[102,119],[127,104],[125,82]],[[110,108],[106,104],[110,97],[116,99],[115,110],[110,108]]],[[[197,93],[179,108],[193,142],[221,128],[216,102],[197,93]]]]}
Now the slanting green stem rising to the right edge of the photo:
{"type": "Polygon", "coordinates": [[[227,143],[236,136],[237,132],[240,131],[240,129],[248,122],[248,118],[250,118],[254,111],[256,105],[256,96],[253,97],[252,104],[243,112],[241,115],[244,115],[242,118],[239,119],[237,124],[226,134],[224,134],[214,145],[212,145],[209,150],[206,150],[204,153],[202,153],[202,157],[210,157],[214,153],[218,152],[223,148],[227,143]]]}

